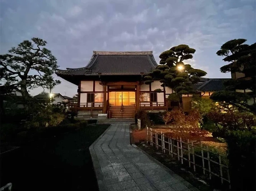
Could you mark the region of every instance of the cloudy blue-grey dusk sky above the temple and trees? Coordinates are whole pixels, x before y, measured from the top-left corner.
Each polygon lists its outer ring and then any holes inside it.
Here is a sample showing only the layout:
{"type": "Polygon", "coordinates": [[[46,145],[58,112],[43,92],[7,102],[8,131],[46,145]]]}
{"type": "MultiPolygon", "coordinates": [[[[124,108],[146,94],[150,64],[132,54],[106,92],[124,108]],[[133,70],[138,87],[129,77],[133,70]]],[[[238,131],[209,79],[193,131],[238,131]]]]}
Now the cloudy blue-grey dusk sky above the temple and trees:
{"type": "MultiPolygon", "coordinates": [[[[256,0],[0,0],[0,54],[39,37],[63,70],[86,66],[93,50],[153,50],[159,63],[160,53],[187,44],[196,49],[187,63],[207,78],[230,78],[216,52],[231,39],[256,42],[255,23],[256,0]]],[[[54,77],[62,83],[53,92],[76,94],[77,86],[54,77]]]]}

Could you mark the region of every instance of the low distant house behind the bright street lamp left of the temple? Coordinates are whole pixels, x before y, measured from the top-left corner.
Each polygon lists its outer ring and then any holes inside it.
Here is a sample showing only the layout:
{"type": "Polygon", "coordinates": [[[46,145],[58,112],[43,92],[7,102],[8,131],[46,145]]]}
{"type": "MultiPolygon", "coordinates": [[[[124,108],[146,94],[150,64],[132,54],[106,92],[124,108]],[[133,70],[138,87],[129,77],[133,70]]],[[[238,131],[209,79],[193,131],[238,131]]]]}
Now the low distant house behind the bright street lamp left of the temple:
{"type": "MultiPolygon", "coordinates": [[[[35,95],[34,98],[50,101],[50,93],[41,93],[41,94],[35,95]]],[[[51,99],[52,99],[51,104],[53,104],[53,105],[59,105],[60,102],[63,102],[63,101],[71,102],[71,100],[73,100],[73,98],[65,96],[65,95],[63,96],[60,93],[52,94],[51,99]]]]}

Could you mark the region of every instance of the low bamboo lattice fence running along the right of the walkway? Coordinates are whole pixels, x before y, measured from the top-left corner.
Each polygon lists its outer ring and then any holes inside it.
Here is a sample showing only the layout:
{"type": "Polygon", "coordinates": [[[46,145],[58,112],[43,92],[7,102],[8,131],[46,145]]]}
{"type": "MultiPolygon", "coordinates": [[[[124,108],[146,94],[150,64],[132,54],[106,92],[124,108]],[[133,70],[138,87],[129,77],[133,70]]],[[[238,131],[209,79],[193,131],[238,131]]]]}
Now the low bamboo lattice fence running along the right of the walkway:
{"type": "Polygon", "coordinates": [[[198,171],[198,167],[201,168],[204,175],[206,175],[206,172],[208,173],[210,180],[212,179],[212,175],[219,177],[221,184],[226,181],[230,187],[229,169],[227,165],[223,164],[223,158],[225,156],[210,151],[208,146],[204,146],[203,144],[196,146],[193,141],[187,140],[185,142],[182,138],[167,137],[163,132],[154,131],[148,127],[147,144],[155,146],[157,150],[160,149],[164,154],[167,152],[171,157],[177,156],[182,164],[184,164],[184,161],[187,161],[186,164],[190,168],[193,168],[194,172],[196,170],[198,171]],[[195,152],[195,149],[197,149],[197,152],[195,152]],[[215,160],[213,160],[214,157],[215,160]],[[213,166],[215,168],[212,168],[213,166]]]}

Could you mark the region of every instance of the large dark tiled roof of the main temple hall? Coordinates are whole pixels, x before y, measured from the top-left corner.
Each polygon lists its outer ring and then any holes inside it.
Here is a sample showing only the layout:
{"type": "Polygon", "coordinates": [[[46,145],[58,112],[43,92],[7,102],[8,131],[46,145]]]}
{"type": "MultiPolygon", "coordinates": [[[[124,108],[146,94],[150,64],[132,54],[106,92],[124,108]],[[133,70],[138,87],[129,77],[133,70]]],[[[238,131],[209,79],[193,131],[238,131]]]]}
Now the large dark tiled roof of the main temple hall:
{"type": "Polygon", "coordinates": [[[64,75],[141,75],[149,73],[157,66],[152,51],[140,52],[106,52],[93,51],[88,65],[83,68],[66,68],[57,70],[60,77],[64,75]]]}

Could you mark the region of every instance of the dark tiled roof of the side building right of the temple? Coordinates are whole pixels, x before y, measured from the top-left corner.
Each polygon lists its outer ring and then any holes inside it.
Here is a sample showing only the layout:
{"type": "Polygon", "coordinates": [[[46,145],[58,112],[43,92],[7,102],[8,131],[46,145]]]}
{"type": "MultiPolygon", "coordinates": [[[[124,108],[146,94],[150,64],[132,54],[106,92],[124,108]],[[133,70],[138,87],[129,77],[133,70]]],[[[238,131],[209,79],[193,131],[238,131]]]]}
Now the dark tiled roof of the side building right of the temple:
{"type": "Polygon", "coordinates": [[[212,78],[203,83],[194,84],[193,87],[202,92],[215,92],[226,89],[224,82],[229,78],[212,78]]]}

